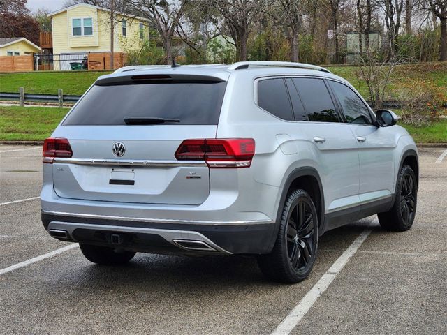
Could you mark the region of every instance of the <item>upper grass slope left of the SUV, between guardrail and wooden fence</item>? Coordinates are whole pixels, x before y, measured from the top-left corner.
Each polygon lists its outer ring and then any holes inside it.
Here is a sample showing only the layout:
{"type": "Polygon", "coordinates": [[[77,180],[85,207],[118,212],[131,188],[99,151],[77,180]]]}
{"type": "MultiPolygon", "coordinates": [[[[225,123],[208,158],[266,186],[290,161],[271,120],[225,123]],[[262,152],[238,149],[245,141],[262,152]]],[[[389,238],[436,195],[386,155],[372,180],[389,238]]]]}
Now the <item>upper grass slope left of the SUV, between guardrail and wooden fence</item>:
{"type": "Polygon", "coordinates": [[[97,77],[108,73],[93,71],[1,73],[0,92],[17,93],[19,87],[24,87],[25,93],[57,94],[57,90],[62,89],[64,94],[80,96],[97,77]]]}

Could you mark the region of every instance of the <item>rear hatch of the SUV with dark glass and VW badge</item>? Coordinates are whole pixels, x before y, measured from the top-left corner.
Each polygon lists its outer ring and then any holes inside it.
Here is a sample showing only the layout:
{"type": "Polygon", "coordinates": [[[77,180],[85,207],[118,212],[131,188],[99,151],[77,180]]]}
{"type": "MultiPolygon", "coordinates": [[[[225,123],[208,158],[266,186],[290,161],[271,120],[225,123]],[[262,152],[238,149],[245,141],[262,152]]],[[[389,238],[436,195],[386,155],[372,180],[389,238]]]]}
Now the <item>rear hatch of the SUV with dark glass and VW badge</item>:
{"type": "Polygon", "coordinates": [[[215,77],[134,75],[98,80],[53,137],[70,158],[54,158],[61,198],[145,204],[200,204],[207,165],[176,161],[183,140],[216,137],[226,82],[215,77]]]}

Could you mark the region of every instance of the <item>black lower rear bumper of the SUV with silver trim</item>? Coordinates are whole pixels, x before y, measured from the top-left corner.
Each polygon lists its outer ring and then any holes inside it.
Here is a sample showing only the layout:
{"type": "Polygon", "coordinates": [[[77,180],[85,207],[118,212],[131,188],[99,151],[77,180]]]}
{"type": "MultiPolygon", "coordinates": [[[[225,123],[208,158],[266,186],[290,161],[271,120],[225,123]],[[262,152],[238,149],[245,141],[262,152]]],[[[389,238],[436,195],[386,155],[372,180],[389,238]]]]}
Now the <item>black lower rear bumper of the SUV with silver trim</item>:
{"type": "Polygon", "coordinates": [[[148,253],[268,253],[274,233],[265,221],[176,223],[42,211],[42,222],[58,239],[148,253]]]}

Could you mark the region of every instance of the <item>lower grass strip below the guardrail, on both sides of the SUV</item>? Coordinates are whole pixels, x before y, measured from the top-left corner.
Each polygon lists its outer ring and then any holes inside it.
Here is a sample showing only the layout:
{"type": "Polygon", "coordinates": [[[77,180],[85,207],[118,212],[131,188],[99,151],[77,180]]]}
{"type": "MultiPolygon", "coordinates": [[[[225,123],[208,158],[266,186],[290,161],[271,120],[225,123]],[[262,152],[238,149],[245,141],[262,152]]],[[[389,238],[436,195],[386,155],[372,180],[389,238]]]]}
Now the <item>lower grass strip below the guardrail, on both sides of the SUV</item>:
{"type": "MultiPolygon", "coordinates": [[[[0,140],[45,140],[67,112],[68,108],[0,106],[0,140]]],[[[417,128],[400,125],[416,143],[447,143],[447,119],[417,128]]]]}

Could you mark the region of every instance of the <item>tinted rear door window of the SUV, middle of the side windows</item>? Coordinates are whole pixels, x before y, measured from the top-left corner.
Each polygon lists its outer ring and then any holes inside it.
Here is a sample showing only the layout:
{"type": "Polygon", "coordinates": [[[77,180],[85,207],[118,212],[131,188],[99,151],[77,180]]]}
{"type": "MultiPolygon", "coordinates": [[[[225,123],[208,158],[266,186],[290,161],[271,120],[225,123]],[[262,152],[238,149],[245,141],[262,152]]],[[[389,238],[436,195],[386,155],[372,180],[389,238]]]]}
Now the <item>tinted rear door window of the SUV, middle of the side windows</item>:
{"type": "Polygon", "coordinates": [[[334,103],[321,79],[293,78],[309,121],[338,122],[334,103]]]}

